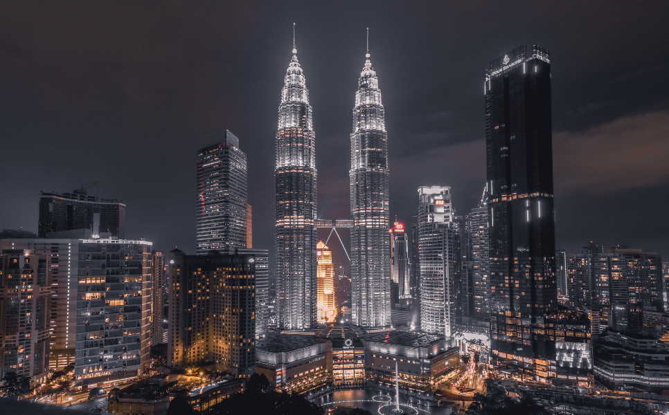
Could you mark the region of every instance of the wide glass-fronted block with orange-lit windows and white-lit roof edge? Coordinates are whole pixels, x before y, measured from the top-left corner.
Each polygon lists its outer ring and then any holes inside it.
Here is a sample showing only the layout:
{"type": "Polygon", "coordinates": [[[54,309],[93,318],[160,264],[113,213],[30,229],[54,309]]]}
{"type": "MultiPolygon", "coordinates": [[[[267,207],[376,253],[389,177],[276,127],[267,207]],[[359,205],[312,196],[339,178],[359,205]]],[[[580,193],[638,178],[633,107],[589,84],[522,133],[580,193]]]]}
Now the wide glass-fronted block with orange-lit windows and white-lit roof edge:
{"type": "Polygon", "coordinates": [[[151,242],[80,239],[75,386],[141,376],[151,347],[151,242]]]}

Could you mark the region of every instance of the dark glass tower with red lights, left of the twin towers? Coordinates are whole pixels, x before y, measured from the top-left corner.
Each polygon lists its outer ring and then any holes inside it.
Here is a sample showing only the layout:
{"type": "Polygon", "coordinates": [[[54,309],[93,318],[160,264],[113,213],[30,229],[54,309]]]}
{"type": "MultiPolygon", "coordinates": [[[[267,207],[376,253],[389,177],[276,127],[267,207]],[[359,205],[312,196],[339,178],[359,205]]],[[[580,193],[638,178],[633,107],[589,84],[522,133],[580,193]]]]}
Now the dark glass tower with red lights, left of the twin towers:
{"type": "Polygon", "coordinates": [[[247,155],[223,129],[197,151],[197,254],[247,247],[247,155]]]}

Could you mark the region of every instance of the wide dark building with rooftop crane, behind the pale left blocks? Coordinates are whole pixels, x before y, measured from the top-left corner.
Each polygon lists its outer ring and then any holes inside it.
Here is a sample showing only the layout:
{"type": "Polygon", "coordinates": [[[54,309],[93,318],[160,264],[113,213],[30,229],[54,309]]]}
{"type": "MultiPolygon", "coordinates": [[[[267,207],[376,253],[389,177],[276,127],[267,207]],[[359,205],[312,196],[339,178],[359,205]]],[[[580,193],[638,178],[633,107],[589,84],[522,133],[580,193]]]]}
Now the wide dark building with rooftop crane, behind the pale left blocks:
{"type": "Polygon", "coordinates": [[[39,196],[39,223],[37,235],[46,237],[48,232],[90,229],[93,235],[109,233],[112,237],[125,237],[125,205],[115,199],[89,196],[86,190],[72,193],[47,193],[39,196]]]}

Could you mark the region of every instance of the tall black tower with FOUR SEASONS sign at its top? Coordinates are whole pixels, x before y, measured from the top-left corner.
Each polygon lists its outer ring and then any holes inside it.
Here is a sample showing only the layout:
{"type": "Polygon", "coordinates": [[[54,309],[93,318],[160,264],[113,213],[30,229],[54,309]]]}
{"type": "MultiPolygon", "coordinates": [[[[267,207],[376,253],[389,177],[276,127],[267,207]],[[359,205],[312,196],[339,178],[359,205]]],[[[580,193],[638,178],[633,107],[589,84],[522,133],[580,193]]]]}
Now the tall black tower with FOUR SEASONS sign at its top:
{"type": "Polygon", "coordinates": [[[523,45],[494,59],[484,88],[492,360],[544,382],[555,344],[523,327],[558,307],[548,50],[523,45]]]}

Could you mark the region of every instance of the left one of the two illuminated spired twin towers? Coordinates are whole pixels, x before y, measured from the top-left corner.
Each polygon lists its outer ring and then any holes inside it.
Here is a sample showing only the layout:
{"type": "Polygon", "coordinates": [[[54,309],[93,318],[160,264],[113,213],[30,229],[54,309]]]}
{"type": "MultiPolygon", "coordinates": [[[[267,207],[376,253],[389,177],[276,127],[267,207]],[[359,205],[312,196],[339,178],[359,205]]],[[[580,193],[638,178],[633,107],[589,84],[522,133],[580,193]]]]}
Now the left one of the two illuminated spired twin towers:
{"type": "Polygon", "coordinates": [[[276,325],[310,329],[316,324],[316,135],[294,45],[278,108],[274,186],[276,325]]]}

